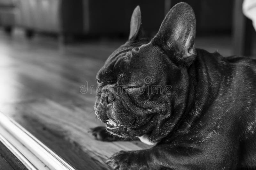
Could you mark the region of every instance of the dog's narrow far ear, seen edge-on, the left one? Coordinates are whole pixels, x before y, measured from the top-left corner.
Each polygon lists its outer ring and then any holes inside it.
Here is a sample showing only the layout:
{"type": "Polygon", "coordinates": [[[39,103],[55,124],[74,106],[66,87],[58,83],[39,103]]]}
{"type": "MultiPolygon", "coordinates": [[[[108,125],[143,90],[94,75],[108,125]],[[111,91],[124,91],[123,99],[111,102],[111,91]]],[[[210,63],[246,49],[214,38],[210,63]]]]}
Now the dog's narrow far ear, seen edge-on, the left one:
{"type": "Polygon", "coordinates": [[[132,12],[129,40],[136,41],[144,37],[145,33],[141,26],[141,12],[138,5],[132,12]]]}

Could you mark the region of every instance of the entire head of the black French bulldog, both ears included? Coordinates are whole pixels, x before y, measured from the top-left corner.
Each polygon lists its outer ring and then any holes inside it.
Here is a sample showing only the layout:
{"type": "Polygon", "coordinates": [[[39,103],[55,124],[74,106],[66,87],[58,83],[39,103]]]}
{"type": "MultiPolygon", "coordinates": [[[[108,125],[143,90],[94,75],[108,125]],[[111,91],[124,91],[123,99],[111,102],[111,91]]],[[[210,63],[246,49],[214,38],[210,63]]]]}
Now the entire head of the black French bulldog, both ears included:
{"type": "Polygon", "coordinates": [[[134,9],[129,40],[97,74],[95,113],[111,134],[147,135],[156,142],[157,136],[169,133],[166,122],[186,106],[195,33],[195,15],[186,3],[168,12],[151,40],[142,30],[140,7],[134,9]]]}

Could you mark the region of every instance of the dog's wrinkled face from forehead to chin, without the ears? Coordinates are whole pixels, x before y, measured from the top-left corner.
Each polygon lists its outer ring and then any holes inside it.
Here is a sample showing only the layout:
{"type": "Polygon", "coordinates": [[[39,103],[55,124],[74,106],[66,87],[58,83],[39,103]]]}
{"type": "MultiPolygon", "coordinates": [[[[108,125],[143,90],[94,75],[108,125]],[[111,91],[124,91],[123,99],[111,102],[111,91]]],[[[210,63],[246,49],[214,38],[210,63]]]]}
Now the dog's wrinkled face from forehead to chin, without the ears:
{"type": "Polygon", "coordinates": [[[170,94],[151,87],[165,87],[179,74],[177,66],[160,48],[151,44],[126,43],[98,72],[102,89],[99,89],[95,104],[96,114],[102,122],[108,121],[107,130],[115,135],[147,133],[156,126],[157,115],[170,110],[170,94]],[[167,77],[168,72],[174,75],[172,80],[167,77]]]}

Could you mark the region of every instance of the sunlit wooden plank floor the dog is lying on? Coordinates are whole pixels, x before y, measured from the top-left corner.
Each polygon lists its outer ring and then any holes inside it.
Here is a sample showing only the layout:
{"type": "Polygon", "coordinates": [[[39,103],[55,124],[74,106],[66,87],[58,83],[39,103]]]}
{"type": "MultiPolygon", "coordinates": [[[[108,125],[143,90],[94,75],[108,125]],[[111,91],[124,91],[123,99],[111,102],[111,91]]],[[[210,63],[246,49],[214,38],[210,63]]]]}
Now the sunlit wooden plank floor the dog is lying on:
{"type": "MultiPolygon", "coordinates": [[[[216,43],[225,55],[231,53],[216,43]]],[[[93,110],[95,88],[82,94],[80,86],[96,86],[97,71],[120,44],[90,41],[59,48],[51,38],[27,41],[20,34],[8,37],[1,32],[0,111],[77,169],[109,169],[105,160],[113,153],[149,148],[139,141],[96,141],[88,132],[102,124],[93,110]]]]}

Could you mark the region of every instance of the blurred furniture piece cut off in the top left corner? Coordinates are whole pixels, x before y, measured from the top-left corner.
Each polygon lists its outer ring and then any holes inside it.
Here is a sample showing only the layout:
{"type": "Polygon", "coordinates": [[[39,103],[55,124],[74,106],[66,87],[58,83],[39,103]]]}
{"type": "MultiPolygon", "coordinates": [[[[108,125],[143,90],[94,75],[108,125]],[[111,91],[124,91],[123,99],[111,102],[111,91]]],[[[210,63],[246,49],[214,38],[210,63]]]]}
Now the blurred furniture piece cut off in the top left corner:
{"type": "Polygon", "coordinates": [[[15,11],[15,0],[0,0],[0,26],[3,26],[8,34],[12,32],[15,25],[15,11]]]}

